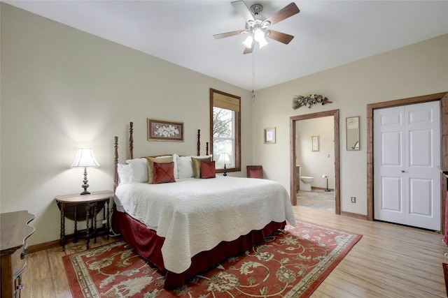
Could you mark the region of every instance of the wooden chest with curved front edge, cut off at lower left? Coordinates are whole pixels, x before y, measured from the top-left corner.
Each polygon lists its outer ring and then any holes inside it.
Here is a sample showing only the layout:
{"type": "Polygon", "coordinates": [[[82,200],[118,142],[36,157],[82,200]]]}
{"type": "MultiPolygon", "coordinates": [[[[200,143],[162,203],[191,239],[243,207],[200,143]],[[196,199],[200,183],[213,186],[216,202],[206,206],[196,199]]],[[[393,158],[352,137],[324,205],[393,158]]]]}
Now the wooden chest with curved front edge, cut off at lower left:
{"type": "Polygon", "coordinates": [[[22,292],[22,272],[27,267],[25,255],[26,239],[34,233],[27,225],[34,219],[28,211],[0,214],[1,223],[1,290],[0,297],[20,297],[22,292]]]}

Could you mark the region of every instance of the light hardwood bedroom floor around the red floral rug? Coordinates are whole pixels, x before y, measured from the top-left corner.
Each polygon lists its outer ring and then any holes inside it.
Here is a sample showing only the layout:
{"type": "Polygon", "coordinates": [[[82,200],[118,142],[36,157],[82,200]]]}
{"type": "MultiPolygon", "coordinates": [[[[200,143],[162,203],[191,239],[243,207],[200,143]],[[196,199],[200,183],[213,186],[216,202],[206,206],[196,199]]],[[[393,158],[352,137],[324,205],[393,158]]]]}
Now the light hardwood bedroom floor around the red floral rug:
{"type": "MultiPolygon", "coordinates": [[[[363,235],[311,297],[447,297],[442,262],[448,262],[448,247],[440,233],[293,208],[298,220],[363,235]]],[[[98,240],[93,247],[107,242],[98,240]]],[[[80,241],[67,245],[65,252],[52,248],[27,255],[22,297],[71,297],[62,256],[84,249],[80,241]]]]}

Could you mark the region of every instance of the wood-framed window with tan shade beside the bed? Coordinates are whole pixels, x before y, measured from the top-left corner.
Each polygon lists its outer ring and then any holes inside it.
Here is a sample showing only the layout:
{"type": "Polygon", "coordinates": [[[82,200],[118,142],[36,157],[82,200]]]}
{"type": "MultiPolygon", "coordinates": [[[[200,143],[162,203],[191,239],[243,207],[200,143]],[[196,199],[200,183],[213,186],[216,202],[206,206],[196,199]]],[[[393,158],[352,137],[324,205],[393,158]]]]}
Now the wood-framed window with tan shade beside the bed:
{"type": "Polygon", "coordinates": [[[216,172],[241,170],[241,98],[210,89],[210,152],[216,172]],[[225,161],[225,163],[224,163],[225,161]]]}

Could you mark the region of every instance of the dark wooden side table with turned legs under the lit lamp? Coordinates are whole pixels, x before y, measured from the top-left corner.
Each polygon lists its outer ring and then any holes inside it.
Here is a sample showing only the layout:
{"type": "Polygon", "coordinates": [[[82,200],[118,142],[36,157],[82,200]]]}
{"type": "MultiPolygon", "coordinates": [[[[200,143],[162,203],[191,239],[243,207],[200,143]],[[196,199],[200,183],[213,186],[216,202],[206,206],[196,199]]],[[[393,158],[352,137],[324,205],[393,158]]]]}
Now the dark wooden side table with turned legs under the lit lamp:
{"type": "MultiPolygon", "coordinates": [[[[57,195],[55,200],[57,207],[61,211],[61,237],[60,243],[62,250],[65,251],[65,218],[75,221],[75,241],[78,239],[78,221],[79,215],[85,214],[87,228],[85,229],[85,245],[89,249],[90,239],[94,237],[97,243],[97,212],[103,209],[103,218],[106,219],[106,234],[109,239],[109,203],[113,198],[113,191],[94,191],[90,195],[57,195]],[[106,204],[106,206],[104,206],[106,204]]],[[[84,219],[84,218],[83,218],[84,219]]]]}

